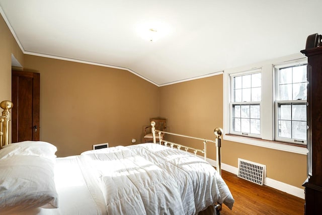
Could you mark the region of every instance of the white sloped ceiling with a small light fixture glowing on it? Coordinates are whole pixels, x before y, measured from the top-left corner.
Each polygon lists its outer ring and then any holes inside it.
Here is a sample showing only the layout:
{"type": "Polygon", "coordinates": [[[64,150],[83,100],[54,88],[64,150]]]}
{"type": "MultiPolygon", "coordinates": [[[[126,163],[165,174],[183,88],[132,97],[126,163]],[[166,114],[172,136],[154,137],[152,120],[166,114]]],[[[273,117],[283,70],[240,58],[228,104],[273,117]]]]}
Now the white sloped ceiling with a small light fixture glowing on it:
{"type": "Polygon", "coordinates": [[[0,12],[24,53],[120,67],[163,86],[298,53],[322,33],[320,3],[0,0],[0,12]],[[166,35],[142,39],[147,23],[166,35]]]}

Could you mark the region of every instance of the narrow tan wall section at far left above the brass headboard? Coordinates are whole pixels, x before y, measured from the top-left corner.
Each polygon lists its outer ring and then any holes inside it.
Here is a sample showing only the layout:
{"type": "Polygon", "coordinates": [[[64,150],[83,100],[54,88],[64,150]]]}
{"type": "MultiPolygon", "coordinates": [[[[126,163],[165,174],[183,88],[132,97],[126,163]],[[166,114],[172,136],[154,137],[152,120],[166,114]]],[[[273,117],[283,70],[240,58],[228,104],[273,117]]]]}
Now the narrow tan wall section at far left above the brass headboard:
{"type": "Polygon", "coordinates": [[[23,52],[0,15],[0,102],[11,100],[11,54],[23,64],[23,52]]]}

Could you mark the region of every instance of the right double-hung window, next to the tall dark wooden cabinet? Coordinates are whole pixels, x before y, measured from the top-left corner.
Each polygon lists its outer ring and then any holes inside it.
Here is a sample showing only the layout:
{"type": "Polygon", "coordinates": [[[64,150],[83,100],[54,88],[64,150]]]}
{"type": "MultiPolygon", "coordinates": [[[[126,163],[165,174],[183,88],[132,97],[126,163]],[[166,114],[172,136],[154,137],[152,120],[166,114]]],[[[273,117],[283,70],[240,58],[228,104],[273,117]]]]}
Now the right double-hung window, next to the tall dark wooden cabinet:
{"type": "Polygon", "coordinates": [[[306,144],[306,64],[276,67],[276,140],[306,144]]]}

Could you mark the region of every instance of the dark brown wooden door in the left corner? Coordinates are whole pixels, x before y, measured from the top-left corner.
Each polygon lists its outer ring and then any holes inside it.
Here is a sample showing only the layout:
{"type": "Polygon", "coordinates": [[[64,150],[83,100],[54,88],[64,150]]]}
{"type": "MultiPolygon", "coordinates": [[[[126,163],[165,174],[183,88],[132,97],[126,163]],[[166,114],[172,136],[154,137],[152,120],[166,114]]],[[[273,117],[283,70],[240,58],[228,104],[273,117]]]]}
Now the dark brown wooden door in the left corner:
{"type": "Polygon", "coordinates": [[[12,70],[12,102],[12,142],[39,140],[39,73],[12,70]]]}

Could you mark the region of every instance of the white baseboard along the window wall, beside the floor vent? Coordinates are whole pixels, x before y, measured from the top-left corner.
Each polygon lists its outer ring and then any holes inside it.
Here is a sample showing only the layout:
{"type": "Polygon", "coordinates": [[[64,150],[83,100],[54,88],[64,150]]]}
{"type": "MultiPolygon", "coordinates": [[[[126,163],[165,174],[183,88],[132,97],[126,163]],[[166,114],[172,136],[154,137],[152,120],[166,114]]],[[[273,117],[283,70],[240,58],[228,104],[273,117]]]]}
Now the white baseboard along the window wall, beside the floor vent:
{"type": "MultiPolygon", "coordinates": [[[[202,156],[200,156],[200,158],[203,159],[202,156]]],[[[214,166],[214,167],[217,166],[217,162],[215,160],[207,158],[207,162],[211,166],[214,166]]],[[[237,167],[233,167],[233,166],[221,163],[221,169],[225,170],[227,172],[230,172],[232,174],[238,175],[238,168],[237,167]]],[[[269,187],[272,187],[274,189],[286,192],[288,194],[297,196],[299,198],[302,198],[302,199],[305,198],[304,188],[301,189],[301,188],[295,187],[293,185],[289,185],[289,184],[286,184],[284,182],[280,182],[280,181],[277,181],[277,180],[274,180],[274,179],[271,179],[271,178],[267,178],[267,177],[264,179],[264,184],[266,186],[269,186],[269,187]]]]}

